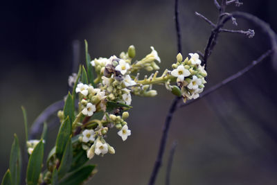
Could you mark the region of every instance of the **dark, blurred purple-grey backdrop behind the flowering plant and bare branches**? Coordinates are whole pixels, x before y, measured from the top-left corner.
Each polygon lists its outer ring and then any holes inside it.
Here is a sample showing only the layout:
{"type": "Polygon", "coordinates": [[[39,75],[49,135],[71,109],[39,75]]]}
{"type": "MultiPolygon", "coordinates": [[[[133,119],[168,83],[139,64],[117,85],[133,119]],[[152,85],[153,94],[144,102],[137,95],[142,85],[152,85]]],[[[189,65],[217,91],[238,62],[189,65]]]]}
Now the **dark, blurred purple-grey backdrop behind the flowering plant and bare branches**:
{"type": "MultiPolygon", "coordinates": [[[[267,21],[277,30],[274,0],[242,1],[229,6],[267,21]]],[[[180,0],[183,54],[203,51],[211,27],[195,16],[217,20],[213,1],[180,0]]],[[[136,46],[136,59],[154,46],[161,70],[177,55],[174,1],[3,1],[0,7],[0,176],[8,168],[13,134],[24,147],[21,105],[29,126],[48,105],[68,91],[73,71],[73,41],[84,39],[91,58],[109,57],[136,46]]],[[[237,29],[231,24],[226,28],[237,29]]],[[[238,19],[238,29],[255,30],[255,37],[222,33],[208,61],[206,89],[244,68],[269,49],[269,40],[256,26],[238,19]]],[[[173,141],[177,149],[172,184],[277,184],[276,71],[269,58],[241,78],[188,107],[172,119],[166,154],[157,184],[164,184],[173,141]]],[[[112,130],[107,142],[115,155],[94,157],[98,173],[88,184],[147,184],[157,156],[161,130],[174,96],[164,87],[154,98],[132,98],[127,122],[132,136],[123,141],[112,130]]],[[[48,133],[48,152],[58,125],[48,133]]],[[[26,169],[26,166],[24,166],[26,169]]]]}

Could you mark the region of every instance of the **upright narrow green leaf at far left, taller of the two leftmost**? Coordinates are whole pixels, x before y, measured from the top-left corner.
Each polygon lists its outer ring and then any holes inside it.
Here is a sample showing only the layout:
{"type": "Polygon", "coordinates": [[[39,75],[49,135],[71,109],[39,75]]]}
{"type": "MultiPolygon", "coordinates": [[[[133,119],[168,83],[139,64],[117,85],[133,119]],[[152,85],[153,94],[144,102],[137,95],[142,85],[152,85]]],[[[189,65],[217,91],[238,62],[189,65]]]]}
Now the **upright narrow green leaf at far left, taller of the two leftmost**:
{"type": "Polygon", "coordinates": [[[21,163],[19,141],[15,134],[15,139],[12,143],[12,150],[10,151],[10,174],[12,175],[12,184],[20,183],[21,163]]]}

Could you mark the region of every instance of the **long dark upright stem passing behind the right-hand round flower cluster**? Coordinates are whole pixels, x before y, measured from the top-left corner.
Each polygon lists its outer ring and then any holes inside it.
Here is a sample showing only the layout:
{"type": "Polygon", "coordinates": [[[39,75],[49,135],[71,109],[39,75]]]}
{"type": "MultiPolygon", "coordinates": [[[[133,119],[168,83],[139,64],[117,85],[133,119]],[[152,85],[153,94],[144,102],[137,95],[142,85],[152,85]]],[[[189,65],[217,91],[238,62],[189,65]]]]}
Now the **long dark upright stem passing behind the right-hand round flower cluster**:
{"type": "MultiPolygon", "coordinates": [[[[179,2],[178,0],[175,0],[175,28],[176,28],[176,33],[177,33],[177,47],[178,47],[178,53],[181,53],[181,30],[180,30],[180,24],[179,24],[179,2]]],[[[170,128],[170,123],[172,120],[172,116],[177,108],[177,103],[179,102],[179,97],[176,97],[173,101],[172,104],[170,105],[170,109],[168,112],[168,115],[166,116],[166,123],[163,126],[163,133],[161,136],[161,141],[160,141],[160,146],[159,146],[159,152],[154,164],[154,168],[152,170],[152,174],[150,177],[149,184],[153,185],[155,184],[155,181],[157,179],[157,175],[159,173],[159,168],[161,168],[161,162],[163,159],[163,154],[164,150],[166,148],[166,141],[168,139],[168,131],[170,128]]]]}

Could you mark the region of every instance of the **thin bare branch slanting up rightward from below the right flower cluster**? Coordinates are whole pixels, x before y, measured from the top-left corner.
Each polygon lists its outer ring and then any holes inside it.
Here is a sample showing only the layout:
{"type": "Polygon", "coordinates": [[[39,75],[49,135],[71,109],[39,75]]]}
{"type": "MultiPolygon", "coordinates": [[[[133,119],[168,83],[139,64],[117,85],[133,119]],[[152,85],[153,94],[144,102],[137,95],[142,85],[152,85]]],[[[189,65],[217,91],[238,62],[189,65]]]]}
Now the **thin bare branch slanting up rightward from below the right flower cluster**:
{"type": "Polygon", "coordinates": [[[233,80],[239,78],[240,76],[244,75],[244,73],[247,73],[250,69],[255,67],[256,64],[259,64],[260,62],[262,62],[262,60],[264,60],[269,55],[271,55],[271,53],[272,53],[272,50],[270,49],[267,52],[263,53],[257,60],[253,60],[253,62],[251,62],[251,64],[249,64],[244,69],[238,71],[237,73],[234,73],[232,76],[229,76],[228,78],[222,80],[222,82],[219,82],[216,85],[214,85],[213,87],[211,87],[210,89],[204,91],[202,94],[200,94],[199,98],[194,99],[194,100],[190,100],[186,104],[182,103],[181,105],[178,106],[178,108],[186,107],[186,106],[190,105],[191,103],[195,103],[196,101],[200,100],[201,98],[204,98],[208,94],[211,94],[213,91],[219,89],[220,87],[222,87],[222,86],[228,84],[229,82],[232,82],[233,80]]]}

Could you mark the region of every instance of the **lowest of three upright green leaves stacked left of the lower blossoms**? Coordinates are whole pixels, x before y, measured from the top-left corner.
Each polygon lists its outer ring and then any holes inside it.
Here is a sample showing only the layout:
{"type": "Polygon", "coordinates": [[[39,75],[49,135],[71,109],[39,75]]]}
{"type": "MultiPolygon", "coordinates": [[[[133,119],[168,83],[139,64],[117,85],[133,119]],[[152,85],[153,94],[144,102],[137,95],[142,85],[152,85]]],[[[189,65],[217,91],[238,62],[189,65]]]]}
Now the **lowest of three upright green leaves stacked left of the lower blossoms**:
{"type": "Polygon", "coordinates": [[[57,170],[59,175],[59,179],[64,177],[64,175],[69,171],[71,167],[71,162],[73,159],[73,148],[71,144],[71,138],[66,143],[66,148],[64,150],[64,155],[62,155],[62,161],[60,163],[60,167],[57,170]]]}

